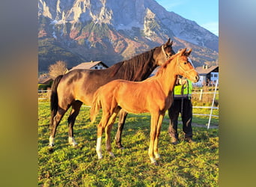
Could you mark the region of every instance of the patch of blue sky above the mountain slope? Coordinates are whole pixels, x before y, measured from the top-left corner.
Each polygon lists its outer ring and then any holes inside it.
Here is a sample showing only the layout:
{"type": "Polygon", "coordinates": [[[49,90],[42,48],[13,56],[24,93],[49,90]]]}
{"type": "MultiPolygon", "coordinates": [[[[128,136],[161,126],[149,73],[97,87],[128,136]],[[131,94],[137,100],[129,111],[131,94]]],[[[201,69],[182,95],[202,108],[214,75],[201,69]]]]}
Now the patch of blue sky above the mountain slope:
{"type": "Polygon", "coordinates": [[[219,0],[156,0],[168,11],[195,21],[219,36],[219,0]]]}

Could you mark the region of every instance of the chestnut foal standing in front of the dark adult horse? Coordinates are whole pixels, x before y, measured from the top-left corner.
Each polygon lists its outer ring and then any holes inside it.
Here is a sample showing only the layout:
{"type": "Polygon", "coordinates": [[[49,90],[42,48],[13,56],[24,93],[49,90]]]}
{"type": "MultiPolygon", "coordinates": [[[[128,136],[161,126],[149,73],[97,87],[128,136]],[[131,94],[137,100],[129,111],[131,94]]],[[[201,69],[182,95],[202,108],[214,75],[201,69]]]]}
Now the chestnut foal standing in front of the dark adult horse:
{"type": "Polygon", "coordinates": [[[129,113],[150,112],[150,146],[148,154],[151,162],[157,165],[159,159],[158,141],[165,111],[170,108],[172,102],[172,91],[177,80],[181,75],[198,82],[199,76],[195,68],[188,61],[189,52],[186,48],[176,55],[171,56],[156,76],[144,80],[143,82],[130,82],[126,80],[115,80],[100,87],[94,93],[94,100],[91,106],[91,121],[94,121],[100,108],[103,108],[103,116],[97,126],[97,155],[102,159],[101,138],[103,131],[106,132],[106,150],[111,156],[112,148],[110,144],[110,132],[112,130],[115,117],[123,108],[129,113]],[[156,159],[154,159],[154,157],[156,159]]]}

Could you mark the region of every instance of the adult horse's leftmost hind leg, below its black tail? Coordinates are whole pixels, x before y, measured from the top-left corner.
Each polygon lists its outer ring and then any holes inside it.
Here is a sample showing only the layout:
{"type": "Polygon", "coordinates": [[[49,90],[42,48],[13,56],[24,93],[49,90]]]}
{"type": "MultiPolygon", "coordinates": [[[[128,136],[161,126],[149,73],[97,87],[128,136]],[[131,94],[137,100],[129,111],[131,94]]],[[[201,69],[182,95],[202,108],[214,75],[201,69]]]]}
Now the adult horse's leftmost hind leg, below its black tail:
{"type": "Polygon", "coordinates": [[[62,117],[64,116],[64,114],[66,113],[68,108],[64,109],[64,108],[58,107],[58,111],[55,114],[55,117],[53,117],[53,119],[52,119],[52,124],[50,126],[51,132],[50,132],[50,137],[49,137],[49,147],[54,146],[54,138],[55,138],[55,133],[56,133],[57,126],[60,123],[62,117]]]}

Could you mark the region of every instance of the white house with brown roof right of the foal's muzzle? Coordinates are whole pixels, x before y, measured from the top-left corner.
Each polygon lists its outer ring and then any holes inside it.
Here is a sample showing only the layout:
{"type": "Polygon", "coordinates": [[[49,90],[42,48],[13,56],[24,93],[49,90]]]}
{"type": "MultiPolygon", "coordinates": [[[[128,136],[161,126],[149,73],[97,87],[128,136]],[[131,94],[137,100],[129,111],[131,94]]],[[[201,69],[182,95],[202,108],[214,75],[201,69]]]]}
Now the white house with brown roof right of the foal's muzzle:
{"type": "Polygon", "coordinates": [[[217,79],[219,79],[219,66],[203,65],[202,67],[196,67],[195,70],[198,72],[200,79],[193,83],[193,86],[215,85],[217,79]]]}

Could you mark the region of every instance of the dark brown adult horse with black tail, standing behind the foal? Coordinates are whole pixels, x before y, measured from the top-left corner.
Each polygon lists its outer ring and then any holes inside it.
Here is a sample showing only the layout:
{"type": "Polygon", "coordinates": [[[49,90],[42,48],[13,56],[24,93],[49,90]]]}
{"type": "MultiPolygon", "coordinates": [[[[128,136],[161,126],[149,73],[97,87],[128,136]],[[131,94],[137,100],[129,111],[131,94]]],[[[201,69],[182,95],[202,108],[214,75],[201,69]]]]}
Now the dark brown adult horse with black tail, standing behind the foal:
{"type": "MultiPolygon", "coordinates": [[[[150,51],[136,55],[127,61],[121,61],[104,70],[72,70],[58,76],[52,83],[49,147],[53,147],[58,124],[70,106],[72,110],[67,119],[68,140],[75,146],[73,125],[82,103],[91,105],[94,92],[112,80],[142,81],[147,79],[157,66],[164,64],[168,57],[175,54],[172,43],[173,41],[170,42],[169,38],[162,46],[150,49],[150,51]]],[[[124,123],[127,113],[121,112],[121,114],[120,124],[124,123]]]]}

